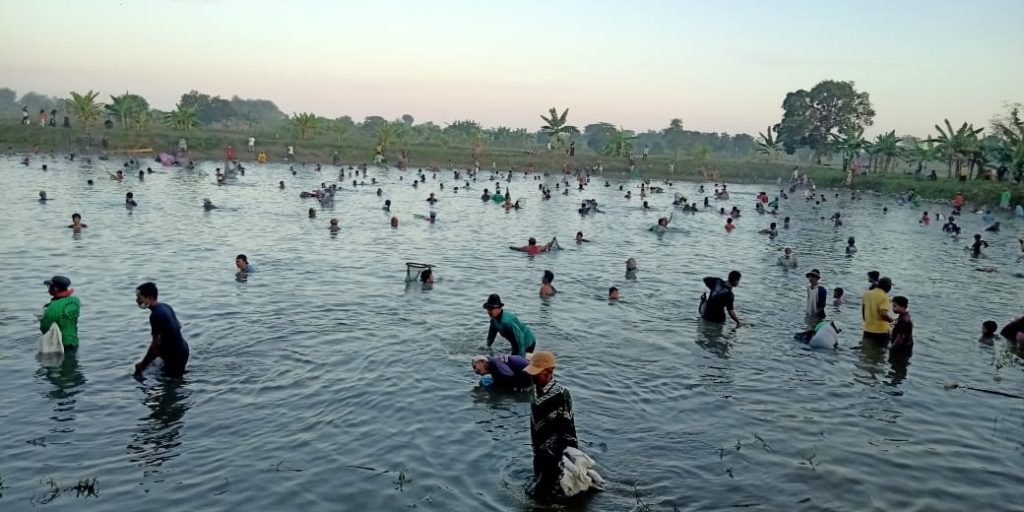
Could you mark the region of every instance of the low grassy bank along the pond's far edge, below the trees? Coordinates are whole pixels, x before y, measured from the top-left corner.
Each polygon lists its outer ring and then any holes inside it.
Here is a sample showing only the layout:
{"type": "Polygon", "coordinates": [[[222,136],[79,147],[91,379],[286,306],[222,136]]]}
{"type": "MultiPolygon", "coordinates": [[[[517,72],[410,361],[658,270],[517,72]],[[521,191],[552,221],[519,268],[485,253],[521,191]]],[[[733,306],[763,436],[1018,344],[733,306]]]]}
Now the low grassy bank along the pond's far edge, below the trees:
{"type": "MultiPolygon", "coordinates": [[[[264,151],[270,161],[284,161],[286,147],[289,143],[295,145],[296,160],[305,163],[330,163],[337,153],[338,159],[346,164],[369,163],[374,157],[376,139],[350,133],[343,137],[336,134],[316,133],[308,139],[296,140],[287,131],[257,129],[252,133],[256,137],[257,151],[264,151]]],[[[93,127],[91,136],[80,128],[41,128],[39,126],[22,126],[16,123],[0,123],[0,146],[16,153],[28,153],[38,147],[41,153],[78,154],[102,152],[101,140],[106,139],[108,151],[112,154],[129,153],[139,150],[150,150],[153,154],[171,151],[177,145],[181,134],[165,127],[154,127],[138,132],[133,130],[105,129],[93,127]]],[[[203,128],[184,135],[194,160],[221,160],[224,158],[224,147],[228,144],[236,147],[236,153],[243,161],[255,161],[255,154],[245,152],[248,132],[231,131],[216,128],[203,128]]],[[[410,142],[409,151],[411,168],[446,168],[451,162],[459,168],[469,168],[473,165],[472,146],[470,143],[410,142]]],[[[385,152],[389,157],[396,158],[398,145],[392,144],[385,152]]],[[[145,155],[144,153],[142,155],[145,155]]],[[[744,183],[766,183],[766,189],[775,189],[779,178],[788,181],[793,174],[793,162],[763,162],[759,160],[721,159],[712,156],[709,160],[697,161],[681,157],[670,172],[671,158],[669,156],[651,156],[646,163],[638,162],[640,174],[651,179],[685,179],[692,181],[729,181],[744,183]],[[771,183],[769,185],[769,183],[771,183]]],[[[603,166],[604,175],[610,177],[629,177],[629,164],[622,158],[607,158],[582,151],[573,158],[563,152],[530,153],[523,148],[487,146],[480,157],[481,168],[487,169],[495,165],[498,169],[525,169],[532,165],[540,171],[557,172],[564,165],[570,168],[603,166]]],[[[801,165],[818,186],[845,188],[845,175],[838,168],[814,167],[801,165]]],[[[634,173],[634,176],[636,173],[634,173]]],[[[1010,188],[1011,203],[1024,203],[1024,186],[1009,182],[993,182],[987,180],[972,180],[961,183],[953,179],[940,178],[937,181],[918,180],[911,174],[888,173],[856,176],[851,188],[870,190],[881,194],[901,194],[914,190],[918,195],[930,200],[951,200],[963,191],[968,202],[977,205],[994,206],[998,204],[999,195],[1010,188]]]]}

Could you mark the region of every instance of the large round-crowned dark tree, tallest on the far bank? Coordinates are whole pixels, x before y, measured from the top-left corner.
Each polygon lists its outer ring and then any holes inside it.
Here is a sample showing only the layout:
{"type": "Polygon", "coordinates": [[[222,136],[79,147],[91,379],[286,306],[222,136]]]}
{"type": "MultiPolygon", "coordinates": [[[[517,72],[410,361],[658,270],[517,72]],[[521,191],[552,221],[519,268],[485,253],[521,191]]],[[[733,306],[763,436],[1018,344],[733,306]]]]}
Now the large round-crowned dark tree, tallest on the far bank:
{"type": "Polygon", "coordinates": [[[858,92],[853,82],[825,80],[811,90],[800,89],[785,95],[778,138],[785,153],[809,147],[812,160],[820,163],[820,152],[843,133],[870,126],[874,109],[866,92],[858,92]]]}

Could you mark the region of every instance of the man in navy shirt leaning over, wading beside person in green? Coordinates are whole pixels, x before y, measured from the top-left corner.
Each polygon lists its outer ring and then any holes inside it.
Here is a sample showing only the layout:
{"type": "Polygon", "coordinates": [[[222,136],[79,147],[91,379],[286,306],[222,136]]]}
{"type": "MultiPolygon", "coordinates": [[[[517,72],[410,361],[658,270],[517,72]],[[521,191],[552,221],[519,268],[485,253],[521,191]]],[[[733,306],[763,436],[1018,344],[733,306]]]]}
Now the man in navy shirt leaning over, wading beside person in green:
{"type": "Polygon", "coordinates": [[[164,375],[180,378],[188,364],[188,343],[181,336],[181,323],[171,306],[157,300],[159,292],[154,283],[143,283],[135,289],[135,303],[150,310],[153,340],[142,360],[135,364],[135,377],[141,377],[150,365],[160,357],[164,361],[164,375]]]}

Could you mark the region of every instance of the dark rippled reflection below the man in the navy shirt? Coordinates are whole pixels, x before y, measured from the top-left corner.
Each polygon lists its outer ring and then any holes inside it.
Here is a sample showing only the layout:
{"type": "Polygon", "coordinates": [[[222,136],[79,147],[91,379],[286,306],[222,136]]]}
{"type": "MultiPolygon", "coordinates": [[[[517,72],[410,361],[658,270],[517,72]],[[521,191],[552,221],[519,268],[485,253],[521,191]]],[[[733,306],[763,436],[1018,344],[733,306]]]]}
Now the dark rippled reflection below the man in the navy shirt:
{"type": "Polygon", "coordinates": [[[178,456],[184,415],[191,408],[191,391],[178,379],[163,379],[153,387],[139,389],[150,414],[139,419],[128,452],[134,456],[131,461],[139,466],[160,467],[178,456]]]}

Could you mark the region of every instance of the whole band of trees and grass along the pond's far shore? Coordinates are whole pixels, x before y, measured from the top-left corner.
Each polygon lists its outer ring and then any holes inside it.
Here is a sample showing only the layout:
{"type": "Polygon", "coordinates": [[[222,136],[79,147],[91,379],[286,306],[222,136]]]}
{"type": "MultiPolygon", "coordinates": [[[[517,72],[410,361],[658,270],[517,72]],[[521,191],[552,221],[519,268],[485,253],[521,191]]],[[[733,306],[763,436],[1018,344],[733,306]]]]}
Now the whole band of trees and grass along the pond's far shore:
{"type": "Polygon", "coordinates": [[[285,162],[293,145],[292,162],[306,165],[373,165],[380,151],[392,166],[406,155],[409,169],[479,165],[481,170],[532,167],[559,173],[600,166],[601,176],[609,178],[765,183],[769,193],[787,186],[799,165],[800,173],[819,187],[885,195],[913,190],[934,201],[951,201],[963,193],[969,203],[986,208],[995,208],[1009,189],[1012,206],[1024,203],[1019,103],[993,118],[987,134],[945,121],[927,139],[891,131],[873,141],[863,131],[874,111],[867,93],[856,91],[852,82],[823,81],[809,91],[791,92],[782,108],[781,122],[757,137],[686,130],[680,119],[642,133],[611,123],[581,130],[568,124],[568,109],[554,108],[540,115],[540,130],[530,132],[484,128],[469,120],[443,127],[416,124],[410,115],[393,121],[370,116],[362,122],[311,113],[287,116],[269,100],[223,99],[198,91],[182,94],[174,111],[160,112],[128,92],[104,103],[93,91],[72,91],[68,99],[32,92],[17,98],[13,90],[0,88],[0,147],[8,155],[108,154],[111,165],[120,166],[120,159],[131,156],[144,163],[161,153],[174,154],[184,138],[187,159],[197,162],[225,160],[228,145],[244,163],[257,165],[260,152],[268,162],[285,162]],[[831,115],[818,114],[822,111],[831,115]],[[246,147],[250,136],[256,139],[253,153],[246,147]],[[927,179],[932,173],[935,179],[927,179]],[[992,179],[996,176],[1000,179],[992,179]]]}

